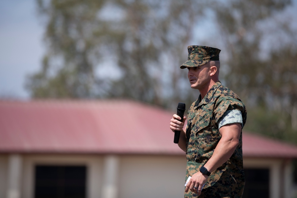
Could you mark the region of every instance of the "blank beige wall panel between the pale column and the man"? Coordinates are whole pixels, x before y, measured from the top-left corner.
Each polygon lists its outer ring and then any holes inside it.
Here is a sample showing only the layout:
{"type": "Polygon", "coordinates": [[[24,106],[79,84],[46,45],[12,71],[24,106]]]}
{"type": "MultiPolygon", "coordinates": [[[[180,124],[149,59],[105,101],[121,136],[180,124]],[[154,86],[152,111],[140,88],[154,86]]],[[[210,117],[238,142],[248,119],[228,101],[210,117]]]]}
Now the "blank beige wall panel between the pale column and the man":
{"type": "Polygon", "coordinates": [[[185,156],[122,157],[118,198],[181,198],[185,167],[185,156]]]}

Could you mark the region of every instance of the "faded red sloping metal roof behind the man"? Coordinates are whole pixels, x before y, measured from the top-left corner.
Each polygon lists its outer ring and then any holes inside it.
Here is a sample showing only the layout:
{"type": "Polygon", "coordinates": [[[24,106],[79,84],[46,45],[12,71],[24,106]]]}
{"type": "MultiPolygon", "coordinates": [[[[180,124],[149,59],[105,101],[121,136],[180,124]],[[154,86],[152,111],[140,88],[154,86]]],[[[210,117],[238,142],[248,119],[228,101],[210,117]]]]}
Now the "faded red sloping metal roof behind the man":
{"type": "MultiPolygon", "coordinates": [[[[184,155],[172,112],[125,100],[0,101],[1,153],[184,155]]],[[[297,147],[243,133],[247,157],[295,157],[297,147]]]]}

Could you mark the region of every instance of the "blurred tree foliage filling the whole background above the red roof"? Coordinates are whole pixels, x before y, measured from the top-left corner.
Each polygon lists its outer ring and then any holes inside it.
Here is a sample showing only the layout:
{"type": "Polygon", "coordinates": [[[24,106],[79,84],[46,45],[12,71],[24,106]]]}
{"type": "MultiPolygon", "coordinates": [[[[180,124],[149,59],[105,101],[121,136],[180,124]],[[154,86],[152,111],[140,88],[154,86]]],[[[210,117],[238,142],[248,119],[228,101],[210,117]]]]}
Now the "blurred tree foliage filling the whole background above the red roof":
{"type": "Polygon", "coordinates": [[[187,45],[218,47],[221,80],[250,110],[247,129],[289,140],[297,134],[297,36],[283,15],[291,3],[37,0],[47,52],[26,86],[34,98],[129,98],[172,109],[198,97],[179,69],[187,45]]]}

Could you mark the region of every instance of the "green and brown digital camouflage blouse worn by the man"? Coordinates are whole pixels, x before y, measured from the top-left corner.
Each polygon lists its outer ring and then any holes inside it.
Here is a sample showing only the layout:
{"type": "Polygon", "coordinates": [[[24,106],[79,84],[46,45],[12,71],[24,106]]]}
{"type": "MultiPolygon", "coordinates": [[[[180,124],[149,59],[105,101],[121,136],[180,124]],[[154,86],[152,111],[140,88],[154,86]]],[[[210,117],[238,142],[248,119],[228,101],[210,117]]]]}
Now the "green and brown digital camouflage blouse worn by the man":
{"type": "MultiPolygon", "coordinates": [[[[208,91],[206,96],[199,98],[191,105],[187,119],[186,146],[187,170],[189,176],[200,170],[212,156],[221,134],[218,121],[228,110],[240,110],[242,126],[247,119],[247,110],[241,99],[220,81],[208,91]]],[[[244,171],[242,162],[242,132],[239,145],[230,159],[211,173],[199,197],[241,197],[244,188],[244,171]]],[[[188,191],[185,197],[197,197],[188,191]]]]}

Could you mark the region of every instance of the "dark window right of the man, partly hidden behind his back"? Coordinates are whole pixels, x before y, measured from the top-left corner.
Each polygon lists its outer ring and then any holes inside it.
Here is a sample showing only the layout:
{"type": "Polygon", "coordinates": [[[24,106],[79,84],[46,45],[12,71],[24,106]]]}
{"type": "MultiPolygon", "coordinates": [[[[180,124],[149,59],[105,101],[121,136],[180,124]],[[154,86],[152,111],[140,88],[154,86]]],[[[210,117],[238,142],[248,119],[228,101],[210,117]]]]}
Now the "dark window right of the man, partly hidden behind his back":
{"type": "Polygon", "coordinates": [[[244,169],[243,198],[269,198],[269,170],[244,169]]]}

